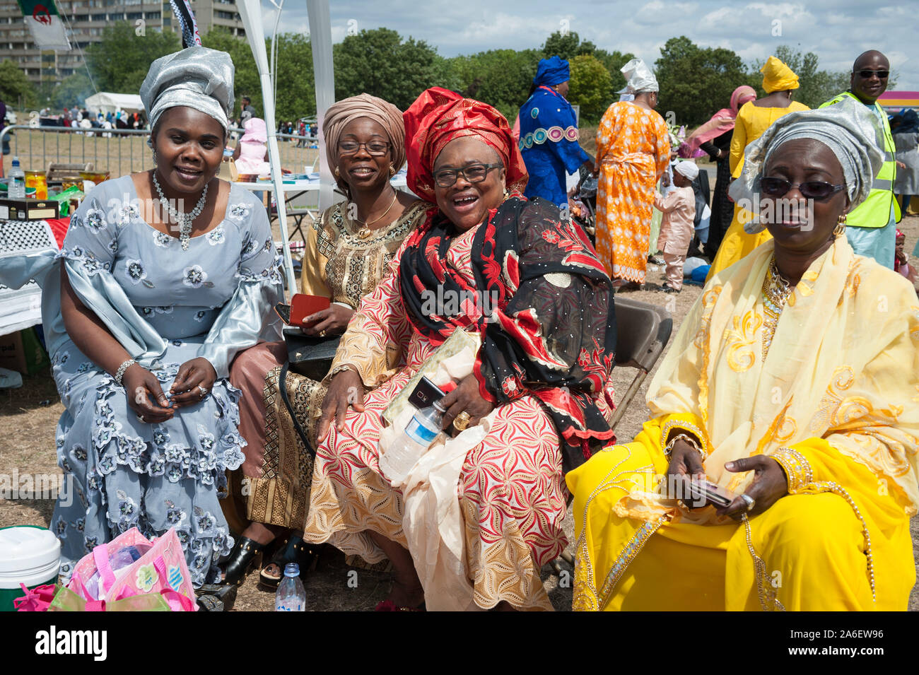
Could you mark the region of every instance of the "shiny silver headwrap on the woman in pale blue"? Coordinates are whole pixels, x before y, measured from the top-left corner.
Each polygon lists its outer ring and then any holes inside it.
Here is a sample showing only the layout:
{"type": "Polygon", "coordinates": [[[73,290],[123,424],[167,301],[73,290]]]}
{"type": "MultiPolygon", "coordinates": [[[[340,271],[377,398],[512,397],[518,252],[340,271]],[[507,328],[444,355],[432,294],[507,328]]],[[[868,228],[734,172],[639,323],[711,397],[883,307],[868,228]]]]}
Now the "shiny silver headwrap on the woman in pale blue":
{"type": "Polygon", "coordinates": [[[166,109],[186,106],[210,115],[225,132],[233,111],[233,72],[230,54],[207,47],[189,47],[154,61],[141,84],[150,128],[166,109]]]}

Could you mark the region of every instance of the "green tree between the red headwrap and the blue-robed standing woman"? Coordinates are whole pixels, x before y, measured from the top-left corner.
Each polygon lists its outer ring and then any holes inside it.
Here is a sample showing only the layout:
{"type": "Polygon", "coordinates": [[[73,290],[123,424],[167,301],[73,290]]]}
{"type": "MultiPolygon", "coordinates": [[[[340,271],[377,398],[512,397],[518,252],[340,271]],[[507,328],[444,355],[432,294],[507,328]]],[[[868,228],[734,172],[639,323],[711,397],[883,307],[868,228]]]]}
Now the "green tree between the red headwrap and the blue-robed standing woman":
{"type": "Polygon", "coordinates": [[[463,96],[496,107],[513,124],[541,56],[536,50],[481,51],[451,59],[449,66],[463,96]]]}

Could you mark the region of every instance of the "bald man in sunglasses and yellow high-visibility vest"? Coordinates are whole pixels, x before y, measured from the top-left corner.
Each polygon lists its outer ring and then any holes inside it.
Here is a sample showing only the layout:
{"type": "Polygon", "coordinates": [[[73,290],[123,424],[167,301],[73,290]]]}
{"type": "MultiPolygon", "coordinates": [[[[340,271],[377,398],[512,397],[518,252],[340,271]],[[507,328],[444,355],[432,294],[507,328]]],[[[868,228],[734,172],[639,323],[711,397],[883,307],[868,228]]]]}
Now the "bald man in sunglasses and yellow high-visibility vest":
{"type": "Polygon", "coordinates": [[[845,220],[845,236],[859,255],[874,258],[879,264],[893,269],[893,255],[897,243],[897,222],[900,220],[900,205],[893,197],[893,179],[897,174],[896,147],[893,144],[891,125],[884,109],[878,104],[878,97],[887,89],[887,78],[891,64],[879,51],[871,50],[861,54],[852,64],[852,78],[848,91],[823,106],[839,103],[846,96],[865,104],[878,118],[884,133],[884,163],[868,198],[854,208],[845,220]]]}

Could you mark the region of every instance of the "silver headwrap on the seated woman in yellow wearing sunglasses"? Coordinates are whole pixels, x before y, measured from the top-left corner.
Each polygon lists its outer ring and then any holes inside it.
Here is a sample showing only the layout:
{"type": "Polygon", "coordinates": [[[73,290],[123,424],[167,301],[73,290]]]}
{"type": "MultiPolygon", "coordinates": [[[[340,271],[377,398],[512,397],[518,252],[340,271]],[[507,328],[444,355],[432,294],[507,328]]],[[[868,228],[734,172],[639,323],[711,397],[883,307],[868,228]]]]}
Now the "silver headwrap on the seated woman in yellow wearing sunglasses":
{"type": "MultiPolygon", "coordinates": [[[[772,154],[787,141],[813,139],[832,150],[842,165],[851,211],[868,197],[874,176],[884,162],[880,134],[878,120],[868,107],[848,96],[832,106],[789,113],[778,118],[762,136],[747,146],[743,152],[743,172],[731,184],[728,194],[734,202],[743,199],[748,204],[754,204],[759,195],[759,179],[766,171],[772,154]]],[[[766,225],[758,219],[743,225],[750,234],[765,228],[766,225]]]]}

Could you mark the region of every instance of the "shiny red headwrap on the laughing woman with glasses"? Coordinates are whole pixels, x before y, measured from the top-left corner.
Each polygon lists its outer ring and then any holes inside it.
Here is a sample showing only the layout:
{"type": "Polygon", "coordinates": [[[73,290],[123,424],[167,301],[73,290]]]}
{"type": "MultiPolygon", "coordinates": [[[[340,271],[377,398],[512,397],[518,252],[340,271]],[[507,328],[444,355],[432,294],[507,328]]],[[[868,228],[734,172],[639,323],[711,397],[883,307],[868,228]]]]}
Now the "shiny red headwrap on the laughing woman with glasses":
{"type": "Polygon", "coordinates": [[[431,87],[403,113],[406,180],[409,189],[425,201],[435,202],[434,161],[449,141],[477,136],[488,143],[505,163],[507,189],[523,192],[529,175],[505,116],[487,103],[463,98],[448,89],[431,87]]]}

